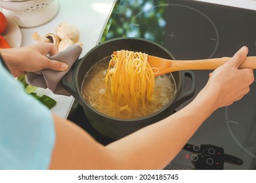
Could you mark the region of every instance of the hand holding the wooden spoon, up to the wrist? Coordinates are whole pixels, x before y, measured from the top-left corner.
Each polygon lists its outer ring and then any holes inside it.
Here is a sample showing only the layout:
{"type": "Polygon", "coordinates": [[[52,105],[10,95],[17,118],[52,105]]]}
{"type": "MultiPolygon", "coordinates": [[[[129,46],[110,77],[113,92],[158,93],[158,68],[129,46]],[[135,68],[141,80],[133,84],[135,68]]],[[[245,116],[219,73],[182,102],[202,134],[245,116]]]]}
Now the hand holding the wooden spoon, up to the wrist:
{"type": "Polygon", "coordinates": [[[242,47],[230,61],[209,75],[205,89],[210,92],[210,96],[217,97],[216,109],[231,105],[249,92],[249,86],[254,81],[253,69],[238,69],[247,53],[248,48],[242,47]]]}

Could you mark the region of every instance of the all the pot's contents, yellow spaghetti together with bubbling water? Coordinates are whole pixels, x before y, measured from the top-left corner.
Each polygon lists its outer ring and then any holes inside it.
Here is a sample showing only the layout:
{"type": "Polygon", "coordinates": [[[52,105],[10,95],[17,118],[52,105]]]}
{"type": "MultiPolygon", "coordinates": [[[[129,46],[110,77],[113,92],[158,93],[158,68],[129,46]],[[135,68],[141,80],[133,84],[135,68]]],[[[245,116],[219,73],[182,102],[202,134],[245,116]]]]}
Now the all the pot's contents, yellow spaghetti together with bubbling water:
{"type": "Polygon", "coordinates": [[[165,107],[176,92],[175,82],[171,74],[155,78],[147,56],[121,50],[97,63],[83,80],[85,100],[116,118],[140,118],[165,107]]]}

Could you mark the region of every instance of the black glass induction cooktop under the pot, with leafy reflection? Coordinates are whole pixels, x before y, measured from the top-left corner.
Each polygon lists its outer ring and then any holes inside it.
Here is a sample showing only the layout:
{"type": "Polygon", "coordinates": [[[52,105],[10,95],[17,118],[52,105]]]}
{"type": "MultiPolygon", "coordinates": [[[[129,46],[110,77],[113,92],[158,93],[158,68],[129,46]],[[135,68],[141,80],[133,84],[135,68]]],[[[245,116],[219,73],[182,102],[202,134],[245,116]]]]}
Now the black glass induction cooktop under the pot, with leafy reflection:
{"type": "MultiPolygon", "coordinates": [[[[256,56],[256,12],[198,1],[119,0],[99,42],[116,37],[149,39],[165,46],[175,59],[232,56],[244,45],[249,48],[249,56],[256,56]]],[[[211,71],[193,72],[198,93],[211,71]]],[[[114,141],[87,122],[83,108],[76,101],[68,119],[102,144],[114,141]]],[[[242,100],[209,116],[165,169],[256,169],[255,163],[254,82],[242,100]]]]}

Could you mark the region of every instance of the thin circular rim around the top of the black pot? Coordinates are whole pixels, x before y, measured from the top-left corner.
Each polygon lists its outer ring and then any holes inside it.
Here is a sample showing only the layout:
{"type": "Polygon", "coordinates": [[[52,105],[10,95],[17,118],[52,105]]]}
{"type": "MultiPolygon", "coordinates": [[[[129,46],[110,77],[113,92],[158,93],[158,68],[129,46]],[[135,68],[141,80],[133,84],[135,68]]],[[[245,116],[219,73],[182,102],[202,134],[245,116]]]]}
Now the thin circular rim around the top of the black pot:
{"type": "MultiPolygon", "coordinates": [[[[154,44],[158,47],[160,47],[163,51],[165,51],[171,59],[175,59],[175,57],[173,56],[173,54],[171,54],[171,52],[169,52],[169,50],[167,50],[166,48],[164,48],[163,46],[161,46],[160,44],[154,42],[154,41],[150,41],[150,40],[147,40],[147,39],[142,39],[142,38],[137,38],[137,37],[119,37],[119,38],[115,38],[115,39],[110,39],[108,41],[104,41],[98,45],[96,45],[94,48],[92,48],[89,52],[87,52],[87,54],[85,54],[85,56],[82,58],[82,60],[79,62],[79,64],[77,65],[77,71],[79,71],[83,61],[85,58],[87,58],[87,56],[89,54],[91,54],[91,52],[95,51],[98,47],[104,45],[104,44],[109,44],[110,42],[114,42],[114,41],[119,41],[119,40],[139,40],[139,41],[144,41],[144,42],[148,42],[150,44],[154,44]]],[[[104,58],[102,58],[104,59],[104,58]]],[[[100,60],[99,60],[100,61],[100,60]]],[[[98,62],[98,61],[97,61],[98,62]]],[[[96,62],[96,63],[97,63],[96,62]]],[[[95,63],[95,64],[96,64],[95,63]]],[[[91,67],[92,68],[92,67],[91,67]]],[[[90,68],[90,69],[91,69],[90,68]]],[[[88,70],[89,71],[89,70],[88,70]]],[[[103,114],[102,112],[99,112],[98,110],[96,110],[95,108],[91,107],[87,101],[85,101],[85,99],[83,98],[83,95],[81,94],[81,90],[78,90],[79,89],[79,86],[78,86],[78,83],[77,83],[77,79],[78,79],[78,75],[79,75],[79,72],[75,72],[75,88],[77,90],[77,93],[79,95],[79,98],[83,101],[83,103],[86,105],[86,107],[88,107],[90,110],[93,110],[93,112],[96,112],[96,114],[99,114],[100,116],[103,116],[104,118],[108,118],[110,120],[115,120],[115,121],[123,121],[123,122],[138,122],[138,121],[141,121],[141,120],[146,120],[148,118],[152,118],[154,116],[157,116],[158,114],[160,114],[161,112],[163,112],[164,110],[166,110],[168,107],[170,107],[171,104],[173,104],[173,102],[175,101],[175,99],[177,98],[177,96],[179,95],[179,91],[181,90],[181,81],[182,81],[182,75],[181,75],[181,71],[175,71],[175,73],[179,73],[179,86],[177,86],[177,82],[175,82],[175,86],[176,86],[176,93],[173,97],[173,99],[171,99],[171,101],[168,103],[168,105],[165,105],[165,107],[161,108],[160,110],[158,110],[157,112],[154,112],[148,116],[144,116],[142,118],[132,118],[132,119],[122,119],[122,118],[115,118],[115,117],[112,117],[112,116],[108,116],[106,114],[103,114]]],[[[171,73],[172,75],[172,73],[171,73]]]]}

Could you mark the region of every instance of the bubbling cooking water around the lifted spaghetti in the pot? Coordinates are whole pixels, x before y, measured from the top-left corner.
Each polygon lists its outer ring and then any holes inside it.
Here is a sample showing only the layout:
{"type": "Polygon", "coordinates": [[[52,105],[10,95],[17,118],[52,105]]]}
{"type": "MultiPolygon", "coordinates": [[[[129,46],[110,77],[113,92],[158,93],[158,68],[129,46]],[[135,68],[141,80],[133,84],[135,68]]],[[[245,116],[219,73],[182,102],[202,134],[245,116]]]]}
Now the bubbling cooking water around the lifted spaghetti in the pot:
{"type": "Polygon", "coordinates": [[[146,101],[146,108],[139,103],[137,108],[121,108],[125,101],[115,103],[110,90],[110,84],[105,84],[105,76],[109,61],[103,60],[98,63],[85,75],[81,88],[83,98],[91,107],[102,114],[121,119],[134,119],[148,116],[161,110],[171,102],[176,86],[173,75],[161,75],[155,78],[155,88],[152,101],[146,101]]]}

